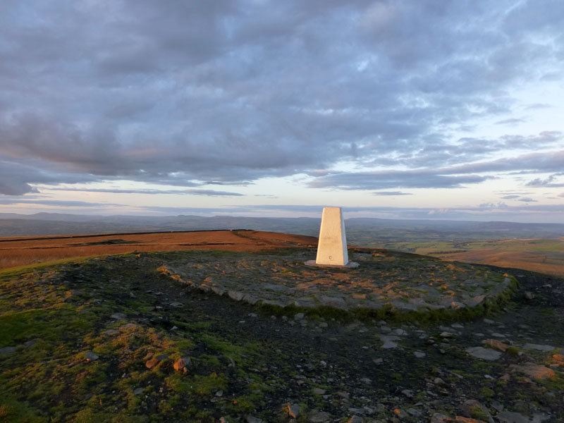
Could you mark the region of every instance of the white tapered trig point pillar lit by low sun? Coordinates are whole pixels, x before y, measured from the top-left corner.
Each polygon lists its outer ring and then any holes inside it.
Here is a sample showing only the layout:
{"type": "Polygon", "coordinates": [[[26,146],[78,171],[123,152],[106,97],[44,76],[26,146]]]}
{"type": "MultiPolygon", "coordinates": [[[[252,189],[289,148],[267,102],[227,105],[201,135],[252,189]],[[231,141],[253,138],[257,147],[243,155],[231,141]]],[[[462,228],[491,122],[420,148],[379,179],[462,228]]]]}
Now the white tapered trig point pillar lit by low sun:
{"type": "Polygon", "coordinates": [[[348,264],[347,237],[341,207],[324,207],[315,264],[348,264]]]}

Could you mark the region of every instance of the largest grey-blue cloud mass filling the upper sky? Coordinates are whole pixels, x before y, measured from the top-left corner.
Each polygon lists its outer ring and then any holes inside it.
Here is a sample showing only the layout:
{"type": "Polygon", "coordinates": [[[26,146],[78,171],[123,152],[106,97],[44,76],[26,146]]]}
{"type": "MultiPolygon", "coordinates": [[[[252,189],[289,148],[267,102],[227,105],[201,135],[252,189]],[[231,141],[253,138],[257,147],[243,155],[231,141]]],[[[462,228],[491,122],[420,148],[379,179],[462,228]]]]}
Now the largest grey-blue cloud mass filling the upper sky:
{"type": "MultiPolygon", "coordinates": [[[[518,104],[508,88],[562,68],[563,6],[514,6],[10,1],[0,16],[0,154],[35,171],[0,169],[0,192],[30,192],[38,173],[49,183],[243,185],[344,159],[433,168],[554,144],[561,134],[448,135],[474,118],[510,123],[518,104]]],[[[408,175],[362,189],[419,186],[408,175]]],[[[422,185],[483,180],[446,175],[422,185]]]]}

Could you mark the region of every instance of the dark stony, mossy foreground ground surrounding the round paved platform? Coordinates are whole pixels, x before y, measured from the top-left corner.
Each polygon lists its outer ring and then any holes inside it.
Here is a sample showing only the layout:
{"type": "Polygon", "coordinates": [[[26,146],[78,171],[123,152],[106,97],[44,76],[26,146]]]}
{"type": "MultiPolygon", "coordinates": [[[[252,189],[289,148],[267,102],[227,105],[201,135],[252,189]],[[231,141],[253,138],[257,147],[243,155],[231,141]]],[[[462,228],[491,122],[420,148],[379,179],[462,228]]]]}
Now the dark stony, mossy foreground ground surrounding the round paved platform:
{"type": "Polygon", "coordinates": [[[0,421],[564,421],[562,279],[487,269],[521,287],[485,316],[357,319],[237,302],[157,270],[193,254],[1,274],[0,421]]]}

